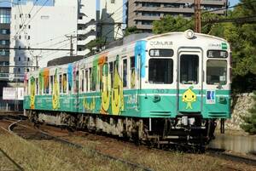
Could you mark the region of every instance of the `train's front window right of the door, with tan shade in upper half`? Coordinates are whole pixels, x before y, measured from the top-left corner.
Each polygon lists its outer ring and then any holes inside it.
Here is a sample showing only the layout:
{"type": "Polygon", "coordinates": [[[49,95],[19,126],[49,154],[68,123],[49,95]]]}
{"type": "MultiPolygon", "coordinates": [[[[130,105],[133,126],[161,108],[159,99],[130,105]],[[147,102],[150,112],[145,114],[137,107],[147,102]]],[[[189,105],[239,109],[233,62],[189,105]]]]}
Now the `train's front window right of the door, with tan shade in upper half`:
{"type": "Polygon", "coordinates": [[[227,83],[227,61],[207,60],[207,84],[227,83]]]}

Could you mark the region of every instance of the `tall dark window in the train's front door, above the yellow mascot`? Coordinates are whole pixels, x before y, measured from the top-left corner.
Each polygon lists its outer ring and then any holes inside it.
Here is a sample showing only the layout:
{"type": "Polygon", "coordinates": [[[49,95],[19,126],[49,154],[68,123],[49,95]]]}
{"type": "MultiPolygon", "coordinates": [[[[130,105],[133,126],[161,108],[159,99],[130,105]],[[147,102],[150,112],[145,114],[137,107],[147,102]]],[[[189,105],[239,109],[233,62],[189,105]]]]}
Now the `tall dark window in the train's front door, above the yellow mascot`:
{"type": "Polygon", "coordinates": [[[199,76],[199,57],[182,54],[180,57],[180,83],[197,84],[199,76]]]}

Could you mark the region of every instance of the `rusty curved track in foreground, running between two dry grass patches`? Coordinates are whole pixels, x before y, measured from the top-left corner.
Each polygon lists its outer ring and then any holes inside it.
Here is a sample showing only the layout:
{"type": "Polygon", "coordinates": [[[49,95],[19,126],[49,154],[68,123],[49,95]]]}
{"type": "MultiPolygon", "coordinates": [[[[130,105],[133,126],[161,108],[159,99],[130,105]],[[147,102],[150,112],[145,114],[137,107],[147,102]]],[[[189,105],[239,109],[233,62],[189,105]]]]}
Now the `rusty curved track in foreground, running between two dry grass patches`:
{"type": "Polygon", "coordinates": [[[52,134],[48,134],[48,133],[46,133],[46,132],[44,132],[44,131],[42,131],[38,128],[28,127],[28,126],[23,125],[22,123],[20,123],[20,121],[17,121],[17,122],[14,122],[14,123],[10,124],[9,125],[9,131],[11,131],[14,134],[19,135],[20,137],[22,137],[25,140],[55,140],[55,141],[60,142],[62,144],[73,146],[77,149],[84,149],[85,148],[86,150],[89,150],[93,154],[96,154],[100,157],[104,157],[108,160],[121,162],[121,163],[123,163],[127,166],[130,166],[133,169],[139,169],[139,170],[144,170],[144,171],[154,171],[153,169],[146,168],[141,164],[138,164],[138,163],[135,163],[135,162],[129,162],[129,161],[126,161],[122,158],[113,157],[113,156],[104,154],[101,151],[96,151],[94,149],[84,147],[84,145],[79,145],[79,144],[70,142],[68,140],[63,140],[60,137],[57,137],[57,136],[52,135],[52,134]],[[18,129],[16,128],[17,126],[19,127],[18,129]],[[20,127],[22,127],[22,128],[20,128],[20,127]]]}

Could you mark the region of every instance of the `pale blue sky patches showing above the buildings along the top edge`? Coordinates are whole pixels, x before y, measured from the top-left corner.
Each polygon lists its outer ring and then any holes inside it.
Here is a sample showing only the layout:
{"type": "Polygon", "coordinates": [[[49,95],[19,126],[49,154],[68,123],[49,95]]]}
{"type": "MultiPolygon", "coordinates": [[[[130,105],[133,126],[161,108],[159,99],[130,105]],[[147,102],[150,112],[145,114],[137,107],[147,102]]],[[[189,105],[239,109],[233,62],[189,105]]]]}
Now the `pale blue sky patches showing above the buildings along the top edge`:
{"type": "MultiPolygon", "coordinates": [[[[26,1],[34,1],[36,2],[36,0],[20,0],[20,2],[24,3],[26,1]]],[[[47,0],[38,0],[38,5],[43,5],[47,0]]],[[[73,0],[71,0],[73,1],[73,0]]],[[[91,1],[91,0],[90,0],[91,1]]],[[[93,1],[93,0],[92,0],[93,1]]],[[[120,0],[118,0],[120,1],[120,0]]],[[[230,1],[230,6],[233,6],[233,5],[236,5],[236,3],[239,3],[240,0],[229,0],[230,1]]],[[[11,3],[9,2],[14,2],[14,3],[17,3],[18,0],[0,0],[0,7],[10,7],[11,3]]],[[[48,2],[46,3],[46,5],[51,5],[53,2],[53,0],[48,0],[48,2]]]]}

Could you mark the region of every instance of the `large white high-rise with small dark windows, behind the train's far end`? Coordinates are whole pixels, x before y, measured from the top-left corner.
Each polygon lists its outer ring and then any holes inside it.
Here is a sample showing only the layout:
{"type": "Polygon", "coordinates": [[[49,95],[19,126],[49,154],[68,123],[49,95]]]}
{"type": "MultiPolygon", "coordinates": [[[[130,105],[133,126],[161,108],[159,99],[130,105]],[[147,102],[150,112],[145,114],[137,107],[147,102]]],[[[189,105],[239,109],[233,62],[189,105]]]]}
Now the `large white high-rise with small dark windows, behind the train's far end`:
{"type": "MultiPolygon", "coordinates": [[[[14,5],[10,47],[20,49],[10,51],[10,66],[44,67],[49,60],[62,56],[87,54],[89,50],[85,49],[85,44],[96,38],[96,24],[90,25],[90,20],[96,20],[96,1],[55,0],[53,6],[37,6],[28,1],[14,5]],[[73,53],[61,50],[70,48],[73,53]]],[[[20,67],[14,72],[29,70],[29,67],[20,67]]]]}

